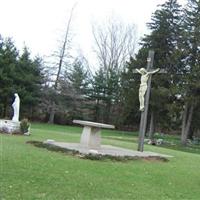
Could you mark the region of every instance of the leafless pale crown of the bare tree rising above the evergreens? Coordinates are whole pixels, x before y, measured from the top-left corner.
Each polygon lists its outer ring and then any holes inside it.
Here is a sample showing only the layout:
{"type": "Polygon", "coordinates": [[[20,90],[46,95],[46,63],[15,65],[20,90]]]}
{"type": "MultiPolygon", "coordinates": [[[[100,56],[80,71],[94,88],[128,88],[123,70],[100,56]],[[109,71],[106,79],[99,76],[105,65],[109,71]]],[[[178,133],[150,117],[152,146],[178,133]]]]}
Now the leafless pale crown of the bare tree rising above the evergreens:
{"type": "Polygon", "coordinates": [[[95,53],[100,67],[105,71],[120,71],[124,63],[134,54],[136,27],[112,18],[104,26],[92,26],[95,53]]]}

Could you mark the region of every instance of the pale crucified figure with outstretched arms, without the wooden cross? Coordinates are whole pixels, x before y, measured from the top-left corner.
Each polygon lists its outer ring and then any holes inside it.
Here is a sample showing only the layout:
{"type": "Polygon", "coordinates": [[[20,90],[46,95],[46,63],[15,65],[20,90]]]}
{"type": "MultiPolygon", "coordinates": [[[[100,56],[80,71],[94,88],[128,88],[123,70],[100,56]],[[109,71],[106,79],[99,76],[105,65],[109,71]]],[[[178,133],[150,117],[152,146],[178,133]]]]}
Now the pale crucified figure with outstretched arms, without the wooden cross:
{"type": "Polygon", "coordinates": [[[144,97],[147,91],[147,81],[149,79],[150,74],[154,74],[158,72],[160,69],[156,69],[154,71],[148,72],[146,69],[136,69],[137,72],[141,74],[141,83],[139,89],[139,101],[140,101],[140,111],[144,111],[144,97]]]}

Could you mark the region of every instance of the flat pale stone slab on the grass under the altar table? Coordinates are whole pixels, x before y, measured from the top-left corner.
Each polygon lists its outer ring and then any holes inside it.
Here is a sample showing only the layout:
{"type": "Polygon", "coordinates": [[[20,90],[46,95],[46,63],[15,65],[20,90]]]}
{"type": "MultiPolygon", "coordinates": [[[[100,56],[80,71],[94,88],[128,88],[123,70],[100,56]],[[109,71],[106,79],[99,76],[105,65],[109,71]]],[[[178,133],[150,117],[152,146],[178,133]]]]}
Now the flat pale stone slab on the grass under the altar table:
{"type": "Polygon", "coordinates": [[[159,154],[149,151],[139,152],[133,151],[130,149],[124,149],[121,147],[115,147],[111,145],[101,145],[101,148],[91,149],[82,146],[79,143],[65,143],[65,142],[55,142],[54,140],[47,140],[44,143],[51,144],[57,147],[66,148],[70,150],[79,151],[82,154],[99,154],[99,155],[111,155],[111,156],[130,156],[130,157],[141,157],[141,158],[148,158],[148,157],[161,157],[161,158],[170,158],[173,156],[159,154]]]}

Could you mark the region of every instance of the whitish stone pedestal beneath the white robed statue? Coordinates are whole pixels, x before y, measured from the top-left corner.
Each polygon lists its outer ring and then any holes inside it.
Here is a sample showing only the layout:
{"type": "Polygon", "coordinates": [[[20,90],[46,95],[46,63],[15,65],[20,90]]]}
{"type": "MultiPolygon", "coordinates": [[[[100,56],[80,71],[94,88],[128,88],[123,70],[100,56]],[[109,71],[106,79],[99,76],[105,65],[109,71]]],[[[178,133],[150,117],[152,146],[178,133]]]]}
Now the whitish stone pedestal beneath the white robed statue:
{"type": "Polygon", "coordinates": [[[0,132],[8,134],[21,134],[20,122],[0,119],[0,132]]]}

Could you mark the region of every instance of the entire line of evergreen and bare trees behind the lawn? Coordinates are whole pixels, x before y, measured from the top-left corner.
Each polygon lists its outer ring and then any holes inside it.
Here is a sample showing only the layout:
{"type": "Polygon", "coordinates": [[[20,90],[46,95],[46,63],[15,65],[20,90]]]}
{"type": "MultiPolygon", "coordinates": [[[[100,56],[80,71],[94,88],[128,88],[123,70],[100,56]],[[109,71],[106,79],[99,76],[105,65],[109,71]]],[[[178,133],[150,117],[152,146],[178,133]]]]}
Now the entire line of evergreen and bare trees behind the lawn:
{"type": "Polygon", "coordinates": [[[12,40],[1,37],[1,117],[11,115],[9,105],[17,92],[21,117],[60,124],[84,119],[137,130],[140,76],[134,70],[146,66],[148,51],[153,49],[154,68],[166,73],[152,80],[149,137],[155,131],[181,133],[181,142],[186,144],[200,130],[199,10],[197,0],[188,0],[184,8],[177,0],[159,5],[147,24],[150,33],[141,39],[135,55],[134,26],[115,20],[93,27],[98,61],[95,72],[83,56],[70,64],[65,62],[69,26],[54,68],[39,57],[32,59],[26,47],[19,55],[12,40]]]}

